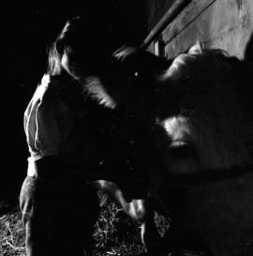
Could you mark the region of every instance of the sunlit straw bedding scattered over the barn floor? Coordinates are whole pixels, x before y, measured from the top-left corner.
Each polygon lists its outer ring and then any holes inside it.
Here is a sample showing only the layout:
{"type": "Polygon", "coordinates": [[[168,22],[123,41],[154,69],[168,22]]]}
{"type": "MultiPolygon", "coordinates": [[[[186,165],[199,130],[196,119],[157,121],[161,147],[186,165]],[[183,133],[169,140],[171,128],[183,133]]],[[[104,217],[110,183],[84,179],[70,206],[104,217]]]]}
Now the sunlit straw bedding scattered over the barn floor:
{"type": "MultiPolygon", "coordinates": [[[[95,224],[94,256],[143,256],[140,224],[128,218],[107,197],[100,196],[100,215],[95,224]]],[[[24,230],[18,203],[0,202],[0,255],[25,256],[24,230]]],[[[166,218],[156,216],[161,235],[168,228],[166,218]]],[[[168,254],[170,256],[170,254],[168,254]]],[[[200,256],[187,253],[186,256],[200,256]]]]}

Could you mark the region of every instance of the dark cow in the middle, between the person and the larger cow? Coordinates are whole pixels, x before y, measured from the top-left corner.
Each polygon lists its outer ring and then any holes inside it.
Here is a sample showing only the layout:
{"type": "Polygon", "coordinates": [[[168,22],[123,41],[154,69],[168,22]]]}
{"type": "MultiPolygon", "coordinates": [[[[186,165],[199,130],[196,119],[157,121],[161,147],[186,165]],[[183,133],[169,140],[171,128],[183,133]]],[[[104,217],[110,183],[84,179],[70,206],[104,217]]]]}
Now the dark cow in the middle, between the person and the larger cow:
{"type": "Polygon", "coordinates": [[[114,115],[103,136],[108,142],[103,144],[110,144],[110,150],[99,167],[109,170],[100,173],[106,180],[95,180],[95,173],[81,171],[80,174],[90,175],[91,186],[108,194],[130,218],[141,222],[141,239],[147,250],[156,248],[160,237],[153,221],[154,211],[149,210],[153,208],[152,193],[156,190],[153,186],[157,184],[153,179],[156,175],[150,171],[156,169],[156,156],[150,150],[150,141],[146,140],[147,123],[142,110],[147,99],[153,96],[156,73],[169,68],[170,64],[152,53],[124,46],[113,54],[106,77],[90,77],[83,85],[91,99],[114,115]]]}

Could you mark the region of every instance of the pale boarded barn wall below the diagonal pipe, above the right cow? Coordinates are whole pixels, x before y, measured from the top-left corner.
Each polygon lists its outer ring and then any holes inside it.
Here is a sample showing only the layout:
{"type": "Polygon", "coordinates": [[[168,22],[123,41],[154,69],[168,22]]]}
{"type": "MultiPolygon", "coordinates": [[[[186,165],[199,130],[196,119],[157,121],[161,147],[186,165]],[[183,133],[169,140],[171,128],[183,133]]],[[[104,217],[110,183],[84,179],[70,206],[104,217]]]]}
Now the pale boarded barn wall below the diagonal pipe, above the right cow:
{"type": "Polygon", "coordinates": [[[170,58],[197,40],[243,58],[252,31],[252,0],[193,0],[167,26],[161,39],[170,58]]]}

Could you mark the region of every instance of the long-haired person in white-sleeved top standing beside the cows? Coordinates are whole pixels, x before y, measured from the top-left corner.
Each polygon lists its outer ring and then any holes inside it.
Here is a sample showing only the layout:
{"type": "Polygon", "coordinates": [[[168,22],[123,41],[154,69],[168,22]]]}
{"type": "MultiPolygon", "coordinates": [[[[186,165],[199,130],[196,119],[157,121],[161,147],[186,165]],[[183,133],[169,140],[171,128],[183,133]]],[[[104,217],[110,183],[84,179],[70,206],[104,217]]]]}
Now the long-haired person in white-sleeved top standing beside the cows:
{"type": "Polygon", "coordinates": [[[83,92],[88,77],[107,65],[105,51],[92,51],[100,43],[92,38],[97,32],[85,27],[82,18],[67,22],[24,113],[30,157],[20,203],[27,256],[77,256],[83,255],[83,248],[91,250],[97,192],[74,172],[96,176],[111,117],[83,92]]]}

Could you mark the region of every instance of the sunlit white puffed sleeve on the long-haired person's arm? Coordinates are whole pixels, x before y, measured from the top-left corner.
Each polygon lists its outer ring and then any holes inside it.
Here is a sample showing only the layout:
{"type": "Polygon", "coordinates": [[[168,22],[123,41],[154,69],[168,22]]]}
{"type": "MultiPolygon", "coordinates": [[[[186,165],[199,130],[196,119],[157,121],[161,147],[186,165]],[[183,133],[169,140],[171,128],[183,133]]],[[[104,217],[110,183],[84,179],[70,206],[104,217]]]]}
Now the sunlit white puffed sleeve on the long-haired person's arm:
{"type": "Polygon", "coordinates": [[[31,161],[59,154],[65,120],[69,115],[67,105],[40,86],[24,113],[24,131],[31,161]]]}

